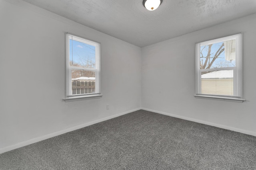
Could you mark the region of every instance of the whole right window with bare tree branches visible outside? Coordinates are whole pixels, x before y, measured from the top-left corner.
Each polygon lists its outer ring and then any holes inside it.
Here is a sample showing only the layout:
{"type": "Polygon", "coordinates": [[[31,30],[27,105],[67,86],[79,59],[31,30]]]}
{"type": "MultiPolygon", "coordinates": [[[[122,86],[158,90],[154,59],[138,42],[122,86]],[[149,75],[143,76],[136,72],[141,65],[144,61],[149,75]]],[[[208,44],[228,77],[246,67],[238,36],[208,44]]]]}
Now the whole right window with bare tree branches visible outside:
{"type": "Polygon", "coordinates": [[[242,35],[196,44],[196,97],[242,99],[242,35]]]}

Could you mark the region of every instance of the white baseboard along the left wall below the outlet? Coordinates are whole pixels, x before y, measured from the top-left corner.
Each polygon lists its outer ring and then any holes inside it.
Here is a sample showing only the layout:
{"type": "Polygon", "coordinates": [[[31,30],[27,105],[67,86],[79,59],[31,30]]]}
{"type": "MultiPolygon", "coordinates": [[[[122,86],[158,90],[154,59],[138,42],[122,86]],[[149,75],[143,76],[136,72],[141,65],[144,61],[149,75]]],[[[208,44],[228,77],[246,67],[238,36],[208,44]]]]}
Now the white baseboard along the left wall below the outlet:
{"type": "Polygon", "coordinates": [[[125,115],[127,113],[131,113],[133,111],[137,111],[137,110],[140,110],[141,108],[137,108],[137,109],[132,109],[132,110],[129,110],[129,111],[125,111],[125,112],[122,112],[122,113],[118,113],[116,115],[112,115],[112,116],[108,116],[108,117],[104,117],[102,119],[98,119],[98,120],[95,120],[95,121],[91,121],[91,122],[88,122],[88,123],[84,123],[82,125],[77,125],[77,126],[74,126],[74,127],[70,127],[68,129],[63,129],[61,131],[57,131],[57,132],[54,132],[54,133],[50,133],[48,135],[44,135],[44,136],[41,136],[41,137],[37,137],[37,138],[34,138],[34,139],[30,139],[28,141],[24,141],[24,142],[21,142],[21,143],[17,143],[15,145],[11,145],[11,146],[8,146],[8,147],[4,147],[2,149],[0,149],[0,154],[1,153],[4,153],[4,152],[8,152],[10,150],[13,150],[13,149],[17,149],[17,148],[20,148],[20,147],[24,147],[26,145],[30,145],[32,143],[36,143],[36,142],[39,142],[39,141],[43,141],[45,139],[49,139],[51,137],[55,137],[55,136],[58,136],[58,135],[62,135],[64,133],[67,133],[67,132],[71,132],[71,131],[74,131],[74,130],[77,130],[77,129],[81,129],[83,127],[86,127],[86,126],[90,126],[90,125],[93,125],[95,123],[100,123],[102,121],[106,121],[108,119],[112,119],[112,118],[115,118],[115,117],[118,117],[118,116],[121,116],[121,115],[125,115]]]}

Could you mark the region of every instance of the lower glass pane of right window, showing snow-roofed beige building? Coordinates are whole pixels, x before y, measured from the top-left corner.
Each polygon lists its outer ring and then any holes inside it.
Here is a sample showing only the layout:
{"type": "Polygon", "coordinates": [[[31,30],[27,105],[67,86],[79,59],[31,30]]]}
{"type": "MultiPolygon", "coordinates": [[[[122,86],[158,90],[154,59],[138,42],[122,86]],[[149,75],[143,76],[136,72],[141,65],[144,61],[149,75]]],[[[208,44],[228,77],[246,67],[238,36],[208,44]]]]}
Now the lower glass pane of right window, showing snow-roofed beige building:
{"type": "Polygon", "coordinates": [[[233,95],[233,70],[201,72],[202,94],[233,95]]]}

